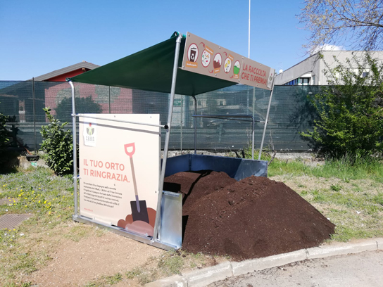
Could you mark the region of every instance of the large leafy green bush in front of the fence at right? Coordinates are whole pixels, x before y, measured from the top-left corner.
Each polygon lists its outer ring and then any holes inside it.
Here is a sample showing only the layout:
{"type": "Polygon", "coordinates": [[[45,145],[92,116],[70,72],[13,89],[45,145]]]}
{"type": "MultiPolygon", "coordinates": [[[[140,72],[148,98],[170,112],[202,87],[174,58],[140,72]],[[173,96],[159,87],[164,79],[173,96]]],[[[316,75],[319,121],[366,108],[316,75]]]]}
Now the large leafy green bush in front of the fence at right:
{"type": "Polygon", "coordinates": [[[329,86],[310,98],[318,120],[301,136],[334,158],[382,153],[383,64],[369,53],[346,64],[334,60],[337,66],[325,70],[329,86]]]}

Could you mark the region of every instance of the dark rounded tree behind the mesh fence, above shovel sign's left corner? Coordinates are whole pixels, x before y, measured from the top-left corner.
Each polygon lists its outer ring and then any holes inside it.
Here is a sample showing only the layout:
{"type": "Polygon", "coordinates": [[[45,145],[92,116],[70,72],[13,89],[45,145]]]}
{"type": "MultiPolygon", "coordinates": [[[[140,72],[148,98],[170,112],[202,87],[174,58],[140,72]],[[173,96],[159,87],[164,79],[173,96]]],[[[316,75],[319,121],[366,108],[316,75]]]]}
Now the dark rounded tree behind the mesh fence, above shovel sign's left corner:
{"type": "MultiPolygon", "coordinates": [[[[72,98],[64,98],[55,108],[56,117],[63,121],[72,120],[72,98]]],[[[76,98],[76,113],[101,113],[102,107],[99,103],[95,103],[92,96],[85,98],[76,98]]]]}

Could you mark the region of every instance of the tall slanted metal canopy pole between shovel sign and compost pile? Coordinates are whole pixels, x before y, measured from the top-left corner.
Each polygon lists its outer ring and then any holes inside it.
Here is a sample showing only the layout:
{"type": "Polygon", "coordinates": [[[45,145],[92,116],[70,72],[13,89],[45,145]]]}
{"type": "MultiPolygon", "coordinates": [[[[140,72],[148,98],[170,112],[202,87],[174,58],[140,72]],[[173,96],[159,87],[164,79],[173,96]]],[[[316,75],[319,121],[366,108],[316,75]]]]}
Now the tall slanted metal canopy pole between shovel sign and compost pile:
{"type": "Polygon", "coordinates": [[[175,56],[174,56],[173,74],[172,74],[172,87],[170,89],[170,103],[169,103],[169,112],[168,112],[168,129],[166,129],[165,146],[163,148],[161,179],[160,179],[160,183],[158,184],[158,202],[157,202],[157,210],[156,210],[156,223],[154,224],[153,241],[161,241],[161,203],[162,203],[163,181],[165,180],[166,161],[168,160],[170,127],[172,124],[172,113],[173,113],[173,104],[174,104],[174,96],[175,96],[175,82],[177,79],[178,58],[180,56],[181,40],[182,40],[182,34],[180,33],[177,37],[177,40],[175,41],[175,56]]]}

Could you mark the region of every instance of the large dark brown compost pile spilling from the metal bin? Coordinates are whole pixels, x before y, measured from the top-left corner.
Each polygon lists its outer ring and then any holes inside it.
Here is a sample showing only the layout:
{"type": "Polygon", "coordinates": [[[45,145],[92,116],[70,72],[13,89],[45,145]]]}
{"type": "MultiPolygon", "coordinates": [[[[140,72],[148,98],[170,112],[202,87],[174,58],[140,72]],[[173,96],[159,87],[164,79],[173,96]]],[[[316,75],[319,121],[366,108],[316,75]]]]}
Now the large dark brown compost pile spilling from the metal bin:
{"type": "Polygon", "coordinates": [[[318,246],[334,224],[282,182],[225,172],[178,172],[164,190],[183,194],[182,249],[245,260],[318,246]]]}

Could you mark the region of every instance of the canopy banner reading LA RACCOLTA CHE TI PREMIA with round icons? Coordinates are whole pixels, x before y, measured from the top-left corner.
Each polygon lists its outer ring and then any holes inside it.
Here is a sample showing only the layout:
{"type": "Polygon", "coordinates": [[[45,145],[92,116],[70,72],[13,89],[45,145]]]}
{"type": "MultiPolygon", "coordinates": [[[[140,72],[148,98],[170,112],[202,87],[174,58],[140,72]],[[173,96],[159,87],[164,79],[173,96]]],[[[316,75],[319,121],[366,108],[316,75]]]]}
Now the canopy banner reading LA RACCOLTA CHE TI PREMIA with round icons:
{"type": "Polygon", "coordinates": [[[270,90],[275,70],[187,33],[182,70],[270,90]]]}

